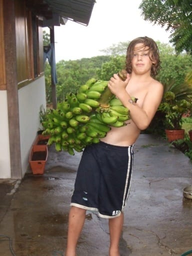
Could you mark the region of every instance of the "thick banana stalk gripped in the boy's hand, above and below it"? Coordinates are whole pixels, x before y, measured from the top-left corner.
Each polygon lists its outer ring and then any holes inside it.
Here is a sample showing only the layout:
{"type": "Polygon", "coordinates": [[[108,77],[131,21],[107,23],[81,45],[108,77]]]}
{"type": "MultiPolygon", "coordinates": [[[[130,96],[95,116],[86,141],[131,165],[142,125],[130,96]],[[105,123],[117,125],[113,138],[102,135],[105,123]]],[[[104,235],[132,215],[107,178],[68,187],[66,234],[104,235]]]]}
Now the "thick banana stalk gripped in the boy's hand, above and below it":
{"type": "MultiPolygon", "coordinates": [[[[118,72],[118,76],[122,79],[122,81],[126,80],[126,75],[127,72],[125,69],[122,69],[121,71],[118,72]]],[[[112,94],[112,92],[109,90],[108,87],[106,87],[104,89],[104,91],[101,94],[100,99],[98,100],[98,102],[100,103],[101,107],[109,107],[109,101],[114,97],[114,94],[112,94]]]]}

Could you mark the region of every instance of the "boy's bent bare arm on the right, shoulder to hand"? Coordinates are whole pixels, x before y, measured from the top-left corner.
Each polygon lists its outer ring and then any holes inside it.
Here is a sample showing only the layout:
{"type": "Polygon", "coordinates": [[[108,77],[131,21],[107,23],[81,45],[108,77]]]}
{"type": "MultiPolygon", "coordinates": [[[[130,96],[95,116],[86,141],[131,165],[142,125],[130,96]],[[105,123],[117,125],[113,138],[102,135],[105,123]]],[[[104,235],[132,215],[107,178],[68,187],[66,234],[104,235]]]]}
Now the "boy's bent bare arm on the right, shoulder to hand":
{"type": "MultiPolygon", "coordinates": [[[[118,79],[118,78],[117,78],[118,79]]],[[[112,85],[108,83],[108,87],[113,94],[116,95],[122,102],[122,104],[130,110],[130,116],[135,125],[140,129],[146,129],[151,122],[160,102],[163,94],[163,86],[160,82],[154,80],[149,91],[145,95],[142,103],[142,107],[138,104],[132,104],[128,100],[131,99],[127,93],[125,87],[128,83],[127,78],[124,82],[118,80],[118,85],[112,85]]]]}

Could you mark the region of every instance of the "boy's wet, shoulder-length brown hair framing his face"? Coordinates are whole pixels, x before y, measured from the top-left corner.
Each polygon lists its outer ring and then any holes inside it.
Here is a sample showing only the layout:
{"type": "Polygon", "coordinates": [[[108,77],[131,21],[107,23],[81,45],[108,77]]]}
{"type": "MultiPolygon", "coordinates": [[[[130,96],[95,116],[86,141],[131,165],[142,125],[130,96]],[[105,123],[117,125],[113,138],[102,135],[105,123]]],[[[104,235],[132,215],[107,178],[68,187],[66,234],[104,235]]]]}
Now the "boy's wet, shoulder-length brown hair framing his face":
{"type": "Polygon", "coordinates": [[[150,74],[152,77],[154,77],[155,75],[157,75],[159,68],[160,68],[159,51],[158,51],[156,42],[152,38],[149,38],[147,36],[137,37],[129,43],[129,45],[127,47],[127,51],[126,51],[126,62],[125,62],[126,67],[125,67],[125,69],[128,73],[132,72],[131,60],[133,57],[134,47],[137,43],[142,43],[143,46],[148,47],[149,52],[152,53],[151,57],[150,56],[149,57],[155,63],[152,63],[150,74]]]}

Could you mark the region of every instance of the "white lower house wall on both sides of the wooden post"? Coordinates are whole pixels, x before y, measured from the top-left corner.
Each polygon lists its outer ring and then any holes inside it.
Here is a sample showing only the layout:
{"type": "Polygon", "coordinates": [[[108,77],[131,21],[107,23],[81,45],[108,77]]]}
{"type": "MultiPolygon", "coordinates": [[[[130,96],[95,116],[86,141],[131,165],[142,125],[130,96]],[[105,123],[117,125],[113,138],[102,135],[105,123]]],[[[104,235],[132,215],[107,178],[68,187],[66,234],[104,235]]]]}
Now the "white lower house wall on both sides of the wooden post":
{"type": "MultiPolygon", "coordinates": [[[[39,110],[46,108],[44,76],[18,90],[22,176],[29,168],[29,152],[40,128],[39,110]]],[[[6,90],[0,90],[0,178],[11,178],[6,90]]]]}

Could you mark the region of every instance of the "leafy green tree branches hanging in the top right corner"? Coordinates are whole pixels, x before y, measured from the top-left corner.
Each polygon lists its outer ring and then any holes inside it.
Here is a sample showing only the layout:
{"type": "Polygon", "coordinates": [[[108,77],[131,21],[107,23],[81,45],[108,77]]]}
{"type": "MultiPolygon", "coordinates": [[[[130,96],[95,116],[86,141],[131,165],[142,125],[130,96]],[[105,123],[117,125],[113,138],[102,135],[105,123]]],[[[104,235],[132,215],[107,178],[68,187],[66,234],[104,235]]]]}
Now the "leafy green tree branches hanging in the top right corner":
{"type": "Polygon", "coordinates": [[[170,42],[176,52],[185,50],[192,54],[191,0],[142,0],[139,8],[144,20],[171,32],[170,42]]]}

